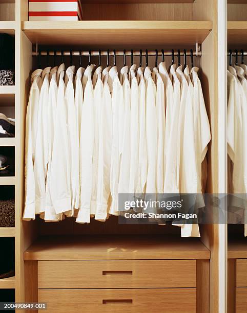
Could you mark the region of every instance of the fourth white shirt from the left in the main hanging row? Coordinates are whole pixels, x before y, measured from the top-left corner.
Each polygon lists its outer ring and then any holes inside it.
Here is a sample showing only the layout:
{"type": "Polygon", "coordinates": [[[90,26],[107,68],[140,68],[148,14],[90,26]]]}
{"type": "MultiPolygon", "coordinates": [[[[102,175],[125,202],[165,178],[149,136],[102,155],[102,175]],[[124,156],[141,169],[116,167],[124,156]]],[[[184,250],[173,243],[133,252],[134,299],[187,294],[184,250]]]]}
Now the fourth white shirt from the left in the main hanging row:
{"type": "Polygon", "coordinates": [[[56,214],[72,210],[64,76],[65,65],[61,64],[57,70],[58,92],[50,176],[51,199],[56,214]]]}

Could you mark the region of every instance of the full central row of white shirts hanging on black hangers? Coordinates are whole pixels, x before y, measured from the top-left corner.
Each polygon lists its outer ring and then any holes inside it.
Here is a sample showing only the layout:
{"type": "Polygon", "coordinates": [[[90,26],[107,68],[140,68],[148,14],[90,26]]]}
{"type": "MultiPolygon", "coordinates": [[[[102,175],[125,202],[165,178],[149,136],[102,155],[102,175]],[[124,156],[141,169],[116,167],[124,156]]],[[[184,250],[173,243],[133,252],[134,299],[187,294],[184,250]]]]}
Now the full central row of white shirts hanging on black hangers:
{"type": "MultiPolygon", "coordinates": [[[[211,140],[198,68],[164,62],[36,70],[26,120],[23,218],[119,215],[118,193],[201,193],[211,140]]],[[[184,225],[182,236],[199,236],[184,225]]]]}

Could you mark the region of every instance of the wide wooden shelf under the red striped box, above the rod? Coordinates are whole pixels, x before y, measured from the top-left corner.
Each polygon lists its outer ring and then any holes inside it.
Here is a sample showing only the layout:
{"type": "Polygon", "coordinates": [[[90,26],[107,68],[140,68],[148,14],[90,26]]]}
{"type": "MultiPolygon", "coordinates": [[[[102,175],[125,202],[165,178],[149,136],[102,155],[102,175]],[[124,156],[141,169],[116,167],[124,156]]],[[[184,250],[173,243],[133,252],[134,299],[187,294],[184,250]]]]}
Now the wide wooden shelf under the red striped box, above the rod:
{"type": "Polygon", "coordinates": [[[25,21],[32,43],[84,48],[141,48],[180,44],[194,46],[212,30],[212,21],[25,21]],[[126,40],[128,38],[128,41],[126,40]]]}

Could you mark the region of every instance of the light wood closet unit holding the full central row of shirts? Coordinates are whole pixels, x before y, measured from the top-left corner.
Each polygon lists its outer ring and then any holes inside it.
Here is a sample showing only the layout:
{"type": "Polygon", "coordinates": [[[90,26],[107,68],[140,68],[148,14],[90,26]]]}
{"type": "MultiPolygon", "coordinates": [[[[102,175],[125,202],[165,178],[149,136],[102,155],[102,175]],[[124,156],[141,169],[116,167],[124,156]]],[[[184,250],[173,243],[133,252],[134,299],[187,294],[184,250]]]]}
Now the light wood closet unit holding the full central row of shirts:
{"type": "Polygon", "coordinates": [[[15,36],[15,87],[0,88],[0,108],[7,99],[16,119],[16,137],[0,140],[15,146],[15,177],[0,178],[1,185],[15,185],[15,228],[0,229],[0,236],[15,236],[16,275],[0,281],[0,288],[15,288],[18,302],[47,302],[47,312],[216,313],[217,225],[201,225],[201,238],[180,238],[179,228],[118,225],[114,216],[89,225],[73,218],[22,221],[25,115],[36,43],[51,50],[195,50],[201,44],[195,61],[212,133],[207,192],[218,193],[217,0],[82,3],[83,21],[48,23],[28,21],[28,0],[0,0],[0,19],[3,7],[15,9],[0,21],[0,31],[15,36]]]}

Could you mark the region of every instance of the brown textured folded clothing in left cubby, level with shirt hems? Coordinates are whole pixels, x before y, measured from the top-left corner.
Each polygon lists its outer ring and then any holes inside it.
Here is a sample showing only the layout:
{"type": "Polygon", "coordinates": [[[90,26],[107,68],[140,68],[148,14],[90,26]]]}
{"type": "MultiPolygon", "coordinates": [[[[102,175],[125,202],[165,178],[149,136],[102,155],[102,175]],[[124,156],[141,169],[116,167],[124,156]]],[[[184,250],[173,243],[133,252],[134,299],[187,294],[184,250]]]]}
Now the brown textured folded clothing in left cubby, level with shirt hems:
{"type": "Polygon", "coordinates": [[[0,227],[14,227],[14,199],[0,200],[0,227]]]}

